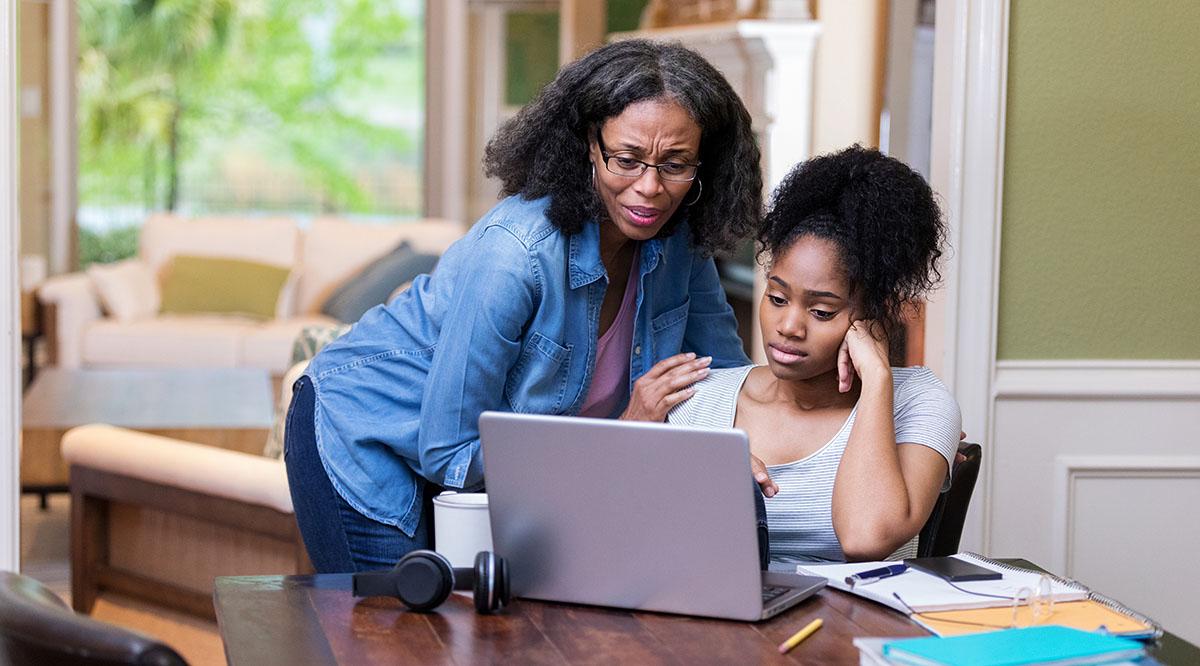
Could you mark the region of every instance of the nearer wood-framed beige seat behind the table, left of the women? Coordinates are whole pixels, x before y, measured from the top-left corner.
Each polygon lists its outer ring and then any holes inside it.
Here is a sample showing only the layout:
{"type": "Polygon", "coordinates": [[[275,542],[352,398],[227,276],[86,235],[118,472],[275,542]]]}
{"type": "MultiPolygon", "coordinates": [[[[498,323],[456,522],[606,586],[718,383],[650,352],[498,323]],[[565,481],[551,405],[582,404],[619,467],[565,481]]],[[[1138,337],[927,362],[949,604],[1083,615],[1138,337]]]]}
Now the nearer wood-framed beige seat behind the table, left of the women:
{"type": "MultiPolygon", "coordinates": [[[[284,373],[281,414],[307,365],[284,373]]],[[[78,612],[112,592],[215,619],[216,576],[313,572],[282,458],[104,424],[67,431],[62,457],[78,612]]]]}

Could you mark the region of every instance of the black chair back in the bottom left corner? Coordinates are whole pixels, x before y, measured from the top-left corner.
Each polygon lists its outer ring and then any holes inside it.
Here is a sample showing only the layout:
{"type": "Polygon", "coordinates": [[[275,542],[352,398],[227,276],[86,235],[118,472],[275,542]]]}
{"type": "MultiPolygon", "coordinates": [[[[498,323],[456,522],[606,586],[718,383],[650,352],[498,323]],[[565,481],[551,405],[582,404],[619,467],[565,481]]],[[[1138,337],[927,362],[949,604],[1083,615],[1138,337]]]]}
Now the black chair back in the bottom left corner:
{"type": "Polygon", "coordinates": [[[42,583],[0,571],[0,664],[187,666],[163,643],[76,614],[42,583]]]}

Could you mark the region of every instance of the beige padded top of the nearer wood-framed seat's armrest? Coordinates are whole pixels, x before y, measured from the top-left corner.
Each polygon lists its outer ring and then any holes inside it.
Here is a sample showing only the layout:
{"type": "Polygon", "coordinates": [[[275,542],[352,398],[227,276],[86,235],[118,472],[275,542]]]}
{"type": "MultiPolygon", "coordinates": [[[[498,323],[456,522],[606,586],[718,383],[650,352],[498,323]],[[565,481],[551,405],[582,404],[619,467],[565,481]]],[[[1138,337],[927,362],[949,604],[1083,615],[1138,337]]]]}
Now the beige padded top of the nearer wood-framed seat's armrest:
{"type": "Polygon", "coordinates": [[[71,428],[62,457],[89,467],[292,514],[282,461],[103,424],[71,428]]]}

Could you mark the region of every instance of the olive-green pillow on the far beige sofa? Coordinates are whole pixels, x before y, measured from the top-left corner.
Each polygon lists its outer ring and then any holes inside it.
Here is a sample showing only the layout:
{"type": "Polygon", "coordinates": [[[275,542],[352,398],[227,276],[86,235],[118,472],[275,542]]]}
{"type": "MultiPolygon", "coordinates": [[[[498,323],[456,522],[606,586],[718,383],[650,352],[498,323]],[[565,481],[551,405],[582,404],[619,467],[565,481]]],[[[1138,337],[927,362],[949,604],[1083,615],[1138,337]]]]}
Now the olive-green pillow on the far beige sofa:
{"type": "Polygon", "coordinates": [[[274,319],[288,272],[258,262],[180,254],[172,259],[162,284],[162,312],[274,319]]]}

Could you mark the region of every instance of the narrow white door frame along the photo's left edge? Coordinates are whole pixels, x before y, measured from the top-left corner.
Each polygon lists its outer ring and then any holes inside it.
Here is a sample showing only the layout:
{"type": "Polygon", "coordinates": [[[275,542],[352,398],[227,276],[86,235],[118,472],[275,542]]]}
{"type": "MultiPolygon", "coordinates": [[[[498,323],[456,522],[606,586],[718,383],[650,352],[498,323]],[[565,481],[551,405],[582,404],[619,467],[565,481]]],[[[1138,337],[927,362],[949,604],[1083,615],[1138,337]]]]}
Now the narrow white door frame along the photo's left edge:
{"type": "Polygon", "coordinates": [[[17,298],[17,4],[0,4],[0,570],[20,570],[20,299],[17,298]]]}

